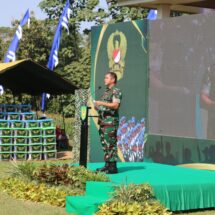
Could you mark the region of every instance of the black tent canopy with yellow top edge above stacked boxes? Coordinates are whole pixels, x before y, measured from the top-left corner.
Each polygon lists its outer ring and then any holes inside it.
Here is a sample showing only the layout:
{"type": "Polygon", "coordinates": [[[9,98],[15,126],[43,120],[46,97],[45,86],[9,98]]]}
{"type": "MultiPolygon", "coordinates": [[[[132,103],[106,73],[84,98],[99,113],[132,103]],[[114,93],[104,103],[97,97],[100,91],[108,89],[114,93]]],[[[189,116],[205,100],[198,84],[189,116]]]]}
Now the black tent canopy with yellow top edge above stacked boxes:
{"type": "Polygon", "coordinates": [[[20,60],[0,64],[0,85],[14,94],[41,95],[74,94],[78,89],[57,73],[32,60],[20,60]]]}

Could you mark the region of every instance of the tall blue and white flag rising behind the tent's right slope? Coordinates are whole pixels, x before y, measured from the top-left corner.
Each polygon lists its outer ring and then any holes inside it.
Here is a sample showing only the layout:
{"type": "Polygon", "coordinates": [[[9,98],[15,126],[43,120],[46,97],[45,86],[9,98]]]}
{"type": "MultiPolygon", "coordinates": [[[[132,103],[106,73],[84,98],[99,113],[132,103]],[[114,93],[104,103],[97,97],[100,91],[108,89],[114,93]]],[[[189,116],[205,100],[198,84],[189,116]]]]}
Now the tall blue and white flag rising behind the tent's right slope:
{"type": "MultiPolygon", "coordinates": [[[[62,34],[62,27],[66,28],[68,34],[69,34],[69,18],[70,18],[70,4],[69,0],[67,0],[67,3],[63,9],[63,13],[60,17],[60,21],[57,26],[57,30],[55,33],[54,41],[52,44],[51,53],[49,56],[48,61],[48,68],[50,70],[54,70],[54,68],[58,65],[58,49],[60,46],[60,39],[62,34]]],[[[44,112],[45,110],[45,101],[46,101],[46,93],[42,94],[42,104],[41,104],[41,110],[44,112]]]]}

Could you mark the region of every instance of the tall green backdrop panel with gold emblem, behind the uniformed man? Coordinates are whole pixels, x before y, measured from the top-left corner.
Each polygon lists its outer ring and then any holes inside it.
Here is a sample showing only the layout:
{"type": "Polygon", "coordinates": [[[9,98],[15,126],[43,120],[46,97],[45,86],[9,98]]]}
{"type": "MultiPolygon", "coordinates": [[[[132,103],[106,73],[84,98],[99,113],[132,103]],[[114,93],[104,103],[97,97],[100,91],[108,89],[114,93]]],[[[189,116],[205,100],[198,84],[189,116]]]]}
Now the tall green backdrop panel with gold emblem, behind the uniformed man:
{"type": "MultiPolygon", "coordinates": [[[[122,91],[120,117],[126,116],[129,119],[134,116],[137,120],[147,118],[147,21],[93,27],[91,43],[91,101],[99,100],[105,90],[104,76],[113,70],[122,91]]],[[[96,112],[92,111],[92,114],[96,115],[96,112]]],[[[90,144],[90,161],[102,161],[103,153],[95,118],[90,121],[90,144]]]]}

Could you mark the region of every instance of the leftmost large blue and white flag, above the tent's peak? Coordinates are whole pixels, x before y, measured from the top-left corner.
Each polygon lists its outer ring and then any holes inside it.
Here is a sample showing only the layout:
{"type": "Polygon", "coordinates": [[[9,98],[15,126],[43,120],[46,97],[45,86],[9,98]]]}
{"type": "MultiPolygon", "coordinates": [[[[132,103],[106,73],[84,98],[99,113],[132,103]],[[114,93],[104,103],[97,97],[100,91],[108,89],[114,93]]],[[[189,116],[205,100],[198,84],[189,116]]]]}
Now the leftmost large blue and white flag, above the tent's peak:
{"type": "Polygon", "coordinates": [[[16,50],[19,46],[19,41],[22,38],[22,27],[28,22],[30,21],[30,12],[29,10],[26,11],[25,16],[23,17],[22,21],[20,22],[16,33],[13,37],[13,40],[10,44],[10,47],[7,51],[7,54],[5,56],[4,59],[4,63],[10,62],[10,61],[15,61],[16,60],[16,50]]]}

